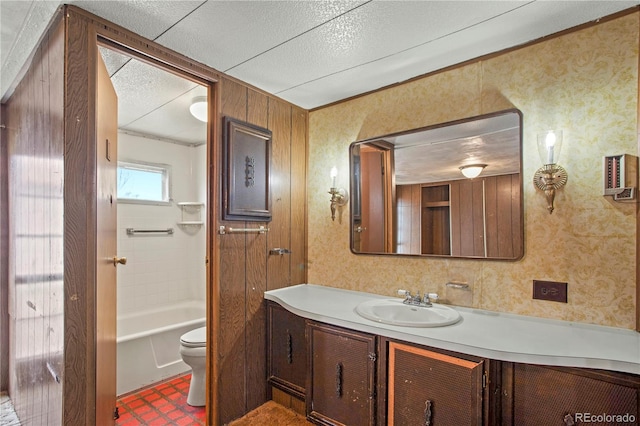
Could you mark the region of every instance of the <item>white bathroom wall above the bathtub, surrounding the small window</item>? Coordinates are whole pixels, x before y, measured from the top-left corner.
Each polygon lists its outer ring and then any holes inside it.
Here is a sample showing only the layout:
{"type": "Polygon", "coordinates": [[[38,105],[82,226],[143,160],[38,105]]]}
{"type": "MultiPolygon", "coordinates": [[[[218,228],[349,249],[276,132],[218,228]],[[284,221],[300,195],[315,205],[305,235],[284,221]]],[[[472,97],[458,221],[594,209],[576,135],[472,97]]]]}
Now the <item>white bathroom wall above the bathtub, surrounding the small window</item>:
{"type": "MultiPolygon", "coordinates": [[[[172,166],[171,205],[118,203],[118,315],[182,300],[205,303],[205,227],[181,226],[182,201],[206,202],[206,145],[188,147],[124,133],[118,158],[172,166]],[[126,228],[173,228],[173,235],[127,235],[126,228]]],[[[206,208],[201,217],[206,219],[206,208]]],[[[193,220],[190,215],[188,220],[193,220]]]]}

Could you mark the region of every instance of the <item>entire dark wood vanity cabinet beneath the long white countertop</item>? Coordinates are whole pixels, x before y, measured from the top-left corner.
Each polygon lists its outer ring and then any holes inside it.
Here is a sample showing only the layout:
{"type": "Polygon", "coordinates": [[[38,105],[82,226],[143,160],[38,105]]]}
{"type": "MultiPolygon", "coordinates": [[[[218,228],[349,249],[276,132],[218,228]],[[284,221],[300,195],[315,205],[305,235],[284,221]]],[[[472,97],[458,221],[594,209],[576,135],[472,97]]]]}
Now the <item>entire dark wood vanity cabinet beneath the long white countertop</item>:
{"type": "Polygon", "coordinates": [[[290,408],[316,424],[640,421],[640,375],[454,353],[306,320],[272,302],[267,318],[273,397],[278,393],[278,402],[283,395],[295,400],[290,408]],[[597,416],[612,417],[599,421],[597,416]]]}

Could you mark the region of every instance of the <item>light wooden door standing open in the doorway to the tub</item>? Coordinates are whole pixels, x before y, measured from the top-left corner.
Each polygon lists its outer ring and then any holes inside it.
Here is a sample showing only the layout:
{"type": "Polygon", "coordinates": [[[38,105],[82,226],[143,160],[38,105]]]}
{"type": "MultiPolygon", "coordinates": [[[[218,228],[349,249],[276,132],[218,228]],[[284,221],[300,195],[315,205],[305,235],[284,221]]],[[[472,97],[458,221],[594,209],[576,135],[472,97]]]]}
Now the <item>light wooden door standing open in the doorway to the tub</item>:
{"type": "Polygon", "coordinates": [[[114,424],[116,407],[116,167],[118,98],[98,54],[96,94],[96,424],[114,424]]]}

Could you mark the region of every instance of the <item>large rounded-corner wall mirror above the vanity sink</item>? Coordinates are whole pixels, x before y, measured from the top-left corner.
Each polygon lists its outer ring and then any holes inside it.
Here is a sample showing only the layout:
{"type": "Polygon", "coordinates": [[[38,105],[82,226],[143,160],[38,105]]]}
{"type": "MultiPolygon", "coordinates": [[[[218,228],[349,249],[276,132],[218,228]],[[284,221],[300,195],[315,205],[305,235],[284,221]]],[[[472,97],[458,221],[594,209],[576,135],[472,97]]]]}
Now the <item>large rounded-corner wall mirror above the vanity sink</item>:
{"type": "Polygon", "coordinates": [[[349,154],[354,253],[523,256],[520,111],[357,141],[349,154]],[[480,174],[463,175],[469,166],[480,174]]]}

